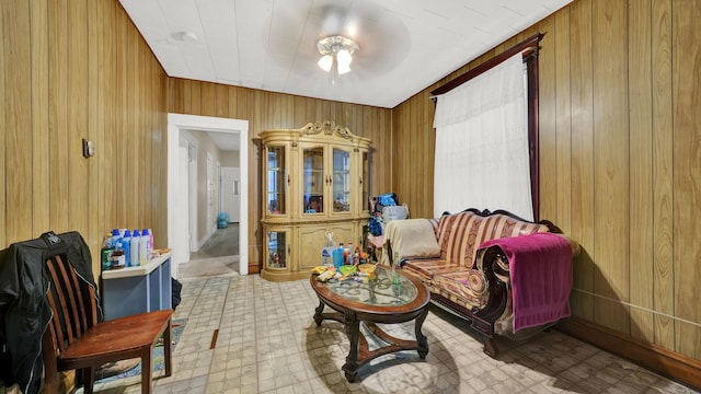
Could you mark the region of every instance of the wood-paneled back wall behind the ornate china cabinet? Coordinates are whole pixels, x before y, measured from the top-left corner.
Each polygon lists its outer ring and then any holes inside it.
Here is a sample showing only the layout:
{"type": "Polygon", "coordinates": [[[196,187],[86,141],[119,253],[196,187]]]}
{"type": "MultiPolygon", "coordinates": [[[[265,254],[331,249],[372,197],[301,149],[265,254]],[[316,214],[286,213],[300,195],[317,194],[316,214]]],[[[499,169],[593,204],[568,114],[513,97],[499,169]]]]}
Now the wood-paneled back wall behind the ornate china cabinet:
{"type": "Polygon", "coordinates": [[[391,192],[392,111],[331,102],[217,83],[170,79],[171,113],[249,120],[249,271],[257,273],[263,251],[261,228],[261,157],[253,143],[262,130],[299,128],[310,121],[332,120],[372,140],[370,190],[391,192]]]}

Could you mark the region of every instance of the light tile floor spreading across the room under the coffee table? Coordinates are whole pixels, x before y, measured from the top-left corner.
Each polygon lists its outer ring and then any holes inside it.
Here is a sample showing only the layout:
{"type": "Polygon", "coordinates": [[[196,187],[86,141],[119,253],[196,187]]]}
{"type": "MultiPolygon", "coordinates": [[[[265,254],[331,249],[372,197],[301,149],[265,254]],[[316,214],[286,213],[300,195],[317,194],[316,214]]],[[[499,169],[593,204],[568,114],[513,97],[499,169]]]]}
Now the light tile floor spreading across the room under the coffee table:
{"type": "MultiPolygon", "coordinates": [[[[341,324],[312,321],[308,280],[274,283],[258,275],[183,280],[175,318],[187,318],[170,378],[156,393],[698,393],[558,331],[501,343],[498,360],[463,321],[432,306],[423,326],[429,354],[388,355],[347,383],[348,340],[341,324]],[[216,340],[215,332],[218,331],[216,340]]],[[[394,325],[413,336],[413,325],[394,325]]],[[[139,393],[139,376],[95,386],[139,393]]],[[[82,392],[82,390],[79,390],[82,392]]]]}

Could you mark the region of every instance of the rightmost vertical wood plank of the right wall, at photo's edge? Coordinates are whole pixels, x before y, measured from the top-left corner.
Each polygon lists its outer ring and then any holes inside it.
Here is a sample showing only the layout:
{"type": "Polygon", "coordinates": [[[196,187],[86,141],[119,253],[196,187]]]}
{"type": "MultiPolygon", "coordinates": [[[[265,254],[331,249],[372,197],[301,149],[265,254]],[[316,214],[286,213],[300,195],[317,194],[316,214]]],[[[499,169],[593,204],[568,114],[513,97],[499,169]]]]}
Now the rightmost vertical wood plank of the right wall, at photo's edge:
{"type": "MultiPolygon", "coordinates": [[[[674,94],[674,315],[699,323],[701,308],[701,4],[673,2],[671,74],[674,94]]],[[[675,323],[675,340],[681,354],[701,358],[701,325],[675,323]]]]}

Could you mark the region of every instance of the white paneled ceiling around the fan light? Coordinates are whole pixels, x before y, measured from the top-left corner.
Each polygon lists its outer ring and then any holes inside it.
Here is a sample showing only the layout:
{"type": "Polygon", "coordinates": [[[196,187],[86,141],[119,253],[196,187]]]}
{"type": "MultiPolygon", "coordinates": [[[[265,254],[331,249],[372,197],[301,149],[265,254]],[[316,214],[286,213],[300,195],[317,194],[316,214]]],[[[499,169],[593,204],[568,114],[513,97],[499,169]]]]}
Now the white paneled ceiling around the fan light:
{"type": "Polygon", "coordinates": [[[119,0],[171,77],[387,108],[571,1],[119,0]],[[336,34],[360,48],[332,84],[336,34]]]}

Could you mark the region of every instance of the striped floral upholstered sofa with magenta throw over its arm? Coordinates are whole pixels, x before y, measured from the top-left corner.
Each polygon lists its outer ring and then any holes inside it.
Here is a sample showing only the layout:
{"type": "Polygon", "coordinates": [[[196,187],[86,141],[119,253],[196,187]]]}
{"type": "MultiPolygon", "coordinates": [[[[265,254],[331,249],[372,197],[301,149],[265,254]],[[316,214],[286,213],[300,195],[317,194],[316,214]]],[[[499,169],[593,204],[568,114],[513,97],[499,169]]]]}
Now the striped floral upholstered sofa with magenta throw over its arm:
{"type": "Polygon", "coordinates": [[[382,263],[397,256],[402,273],[423,281],[434,304],[469,320],[496,357],[495,335],[525,338],[570,315],[578,252],[549,221],[468,209],[388,223],[382,263]]]}

